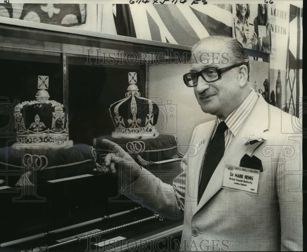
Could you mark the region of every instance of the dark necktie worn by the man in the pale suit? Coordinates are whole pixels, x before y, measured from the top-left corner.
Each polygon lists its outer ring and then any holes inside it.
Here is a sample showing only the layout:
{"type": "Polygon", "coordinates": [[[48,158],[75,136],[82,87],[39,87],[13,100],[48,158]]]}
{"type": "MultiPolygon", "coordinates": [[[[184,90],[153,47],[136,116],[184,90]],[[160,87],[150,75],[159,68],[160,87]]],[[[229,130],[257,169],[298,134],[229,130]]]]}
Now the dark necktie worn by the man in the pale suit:
{"type": "Polygon", "coordinates": [[[219,164],[224,155],[224,132],[227,130],[227,128],[228,127],[225,122],[221,121],[207,147],[203,168],[201,171],[200,184],[198,187],[198,202],[200,201],[200,198],[203,195],[216,166],[219,164]]]}

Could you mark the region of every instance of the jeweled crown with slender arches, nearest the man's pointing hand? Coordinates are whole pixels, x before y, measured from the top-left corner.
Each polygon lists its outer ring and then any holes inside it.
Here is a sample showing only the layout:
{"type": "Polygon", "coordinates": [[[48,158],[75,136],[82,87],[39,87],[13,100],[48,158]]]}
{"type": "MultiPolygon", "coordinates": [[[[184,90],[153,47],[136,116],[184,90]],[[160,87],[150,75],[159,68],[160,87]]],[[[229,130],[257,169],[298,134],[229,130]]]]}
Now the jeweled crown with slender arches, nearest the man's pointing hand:
{"type": "Polygon", "coordinates": [[[110,106],[110,114],[115,125],[114,138],[157,137],[155,129],[159,115],[158,105],[138,92],[137,75],[130,72],[126,97],[110,106]]]}

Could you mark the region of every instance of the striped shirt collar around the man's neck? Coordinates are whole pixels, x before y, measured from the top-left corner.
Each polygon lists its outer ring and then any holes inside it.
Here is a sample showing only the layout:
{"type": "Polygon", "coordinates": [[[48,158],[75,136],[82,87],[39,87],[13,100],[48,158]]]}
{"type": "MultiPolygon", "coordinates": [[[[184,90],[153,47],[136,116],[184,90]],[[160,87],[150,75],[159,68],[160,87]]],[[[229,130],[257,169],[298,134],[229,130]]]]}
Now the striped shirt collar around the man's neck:
{"type": "MultiPolygon", "coordinates": [[[[247,119],[251,110],[256,104],[258,96],[255,90],[251,89],[251,93],[247,98],[236,108],[227,118],[224,120],[231,133],[236,136],[242,127],[244,121],[247,119]]],[[[216,117],[216,125],[218,125],[222,119],[216,117]]]]}

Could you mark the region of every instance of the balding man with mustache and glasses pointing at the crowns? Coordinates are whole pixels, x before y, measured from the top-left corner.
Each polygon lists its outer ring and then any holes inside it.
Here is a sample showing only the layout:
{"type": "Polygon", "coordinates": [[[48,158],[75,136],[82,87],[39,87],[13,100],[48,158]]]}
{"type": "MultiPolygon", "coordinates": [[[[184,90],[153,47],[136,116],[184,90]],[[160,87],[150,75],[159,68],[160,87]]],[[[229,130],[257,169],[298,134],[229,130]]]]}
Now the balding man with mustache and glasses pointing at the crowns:
{"type": "Polygon", "coordinates": [[[302,250],[297,118],[249,87],[249,56],[237,40],[207,37],[192,52],[199,61],[184,75],[185,84],[216,120],[194,129],[194,154],[182,159],[173,185],[138,166],[122,149],[107,155],[106,166],[125,182],[127,197],[141,198],[142,205],[168,218],[184,216],[181,250],[302,250]],[[121,162],[131,165],[118,170],[121,162]]]}

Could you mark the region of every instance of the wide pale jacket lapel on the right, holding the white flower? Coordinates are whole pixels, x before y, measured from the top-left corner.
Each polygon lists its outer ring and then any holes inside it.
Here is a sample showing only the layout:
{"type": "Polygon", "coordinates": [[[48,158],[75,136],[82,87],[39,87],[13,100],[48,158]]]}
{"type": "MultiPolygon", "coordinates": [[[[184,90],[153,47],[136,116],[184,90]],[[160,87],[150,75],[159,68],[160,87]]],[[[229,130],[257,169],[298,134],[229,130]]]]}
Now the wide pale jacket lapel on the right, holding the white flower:
{"type": "MultiPolygon", "coordinates": [[[[259,95],[258,95],[259,96],[259,95]]],[[[197,205],[194,214],[208,202],[222,187],[223,183],[223,170],[225,166],[225,161],[232,160],[232,165],[239,165],[241,158],[244,154],[251,156],[254,150],[258,147],[260,143],[255,143],[253,145],[245,145],[246,135],[250,132],[265,132],[269,127],[269,114],[268,114],[268,104],[262,96],[258,97],[258,100],[251,111],[250,115],[246,119],[245,123],[238,134],[232,139],[230,146],[226,149],[223,158],[221,159],[216,170],[212,174],[212,177],[204,191],[203,196],[197,205]]],[[[208,144],[207,144],[208,146],[208,144]]],[[[202,167],[202,165],[200,165],[202,167]]],[[[198,177],[199,178],[199,177],[198,177]]],[[[198,181],[198,180],[197,180],[198,181]]],[[[198,184],[198,183],[197,183],[198,184]]],[[[198,189],[197,189],[198,191],[198,189]]],[[[198,193],[198,192],[197,192],[198,193]]],[[[196,194],[197,195],[197,194],[196,194]]]]}

